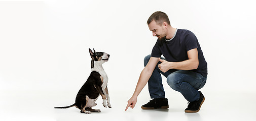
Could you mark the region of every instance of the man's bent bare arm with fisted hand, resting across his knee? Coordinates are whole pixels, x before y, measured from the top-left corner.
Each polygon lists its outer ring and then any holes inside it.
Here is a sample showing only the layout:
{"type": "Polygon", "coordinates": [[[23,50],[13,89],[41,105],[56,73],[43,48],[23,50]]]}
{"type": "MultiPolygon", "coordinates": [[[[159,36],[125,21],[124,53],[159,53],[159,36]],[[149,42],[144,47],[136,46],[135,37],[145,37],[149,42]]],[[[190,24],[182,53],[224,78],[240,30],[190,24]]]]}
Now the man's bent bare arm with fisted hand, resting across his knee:
{"type": "Polygon", "coordinates": [[[164,73],[170,69],[176,69],[176,70],[197,69],[199,65],[197,48],[191,49],[187,53],[188,53],[189,59],[183,62],[167,62],[164,59],[159,58],[159,61],[162,63],[158,65],[158,68],[164,73]]]}

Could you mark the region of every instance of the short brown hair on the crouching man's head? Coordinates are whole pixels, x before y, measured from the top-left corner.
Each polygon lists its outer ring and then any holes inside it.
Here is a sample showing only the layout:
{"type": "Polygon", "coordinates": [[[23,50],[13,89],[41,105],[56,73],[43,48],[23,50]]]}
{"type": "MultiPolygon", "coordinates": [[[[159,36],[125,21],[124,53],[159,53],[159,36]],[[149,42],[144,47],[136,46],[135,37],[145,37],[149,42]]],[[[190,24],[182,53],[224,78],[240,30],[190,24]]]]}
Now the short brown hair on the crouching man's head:
{"type": "Polygon", "coordinates": [[[158,25],[162,25],[164,22],[171,25],[168,16],[164,12],[161,12],[161,11],[157,11],[157,12],[153,13],[150,16],[150,18],[148,19],[147,24],[149,25],[154,20],[158,25]]]}

